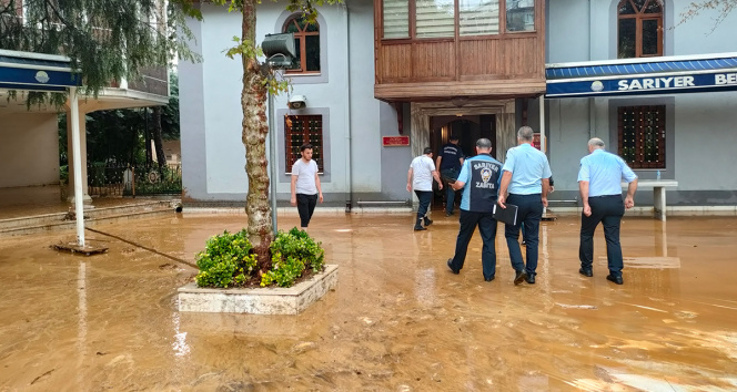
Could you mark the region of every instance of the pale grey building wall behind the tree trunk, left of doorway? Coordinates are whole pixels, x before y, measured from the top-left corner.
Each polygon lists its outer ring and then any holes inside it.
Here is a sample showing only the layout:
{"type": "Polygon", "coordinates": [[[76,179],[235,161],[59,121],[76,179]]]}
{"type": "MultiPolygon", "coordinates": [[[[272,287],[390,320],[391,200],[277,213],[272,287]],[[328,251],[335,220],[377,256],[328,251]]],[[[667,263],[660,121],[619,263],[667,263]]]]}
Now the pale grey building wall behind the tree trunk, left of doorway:
{"type": "MultiPolygon", "coordinates": [[[[223,51],[231,37],[240,35],[238,12],[203,4],[204,22],[191,22],[195,51],[204,61],[180,63],[183,187],[189,200],[240,202],[245,199],[248,177],[241,142],[242,111],[240,60],[223,51]]],[[[277,130],[277,198],[290,197],[290,176],[284,167],[286,114],[322,114],[325,167],[321,177],[327,203],[360,199],[404,199],[408,147],[382,147],[381,135],[397,134],[395,111],[373,99],[373,3],[370,0],[319,8],[321,30],[320,75],[294,75],[291,94],[305,95],[306,109],[290,110],[289,95],[274,97],[277,130]],[[353,194],[353,195],[351,195],[353,194]]],[[[281,3],[259,6],[256,38],[280,32],[290,12],[281,3]]],[[[271,159],[270,159],[271,161],[271,159]]],[[[408,166],[407,166],[408,167],[408,166]]]]}

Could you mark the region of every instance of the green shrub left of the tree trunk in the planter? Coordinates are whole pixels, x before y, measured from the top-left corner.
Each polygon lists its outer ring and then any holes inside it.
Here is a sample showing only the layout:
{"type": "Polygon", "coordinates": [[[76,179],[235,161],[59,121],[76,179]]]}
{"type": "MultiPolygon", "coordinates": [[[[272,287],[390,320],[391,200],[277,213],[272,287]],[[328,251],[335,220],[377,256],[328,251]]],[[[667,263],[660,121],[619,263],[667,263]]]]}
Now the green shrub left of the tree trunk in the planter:
{"type": "Polygon", "coordinates": [[[256,255],[245,229],[224,231],[208,239],[205,249],[198,254],[200,274],[194,277],[200,287],[229,287],[242,285],[256,269],[256,255]]]}

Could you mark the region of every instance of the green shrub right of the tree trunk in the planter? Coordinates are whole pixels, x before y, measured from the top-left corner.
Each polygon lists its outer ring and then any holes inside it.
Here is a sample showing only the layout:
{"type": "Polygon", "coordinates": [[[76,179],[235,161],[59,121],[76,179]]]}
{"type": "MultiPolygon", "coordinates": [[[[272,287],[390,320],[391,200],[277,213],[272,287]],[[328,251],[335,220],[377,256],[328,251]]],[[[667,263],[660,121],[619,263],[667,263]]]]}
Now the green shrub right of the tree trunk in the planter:
{"type": "Polygon", "coordinates": [[[325,251],[321,245],[296,227],[289,233],[280,230],[271,243],[271,270],[261,277],[261,286],[291,287],[306,268],[322,271],[325,251]]]}

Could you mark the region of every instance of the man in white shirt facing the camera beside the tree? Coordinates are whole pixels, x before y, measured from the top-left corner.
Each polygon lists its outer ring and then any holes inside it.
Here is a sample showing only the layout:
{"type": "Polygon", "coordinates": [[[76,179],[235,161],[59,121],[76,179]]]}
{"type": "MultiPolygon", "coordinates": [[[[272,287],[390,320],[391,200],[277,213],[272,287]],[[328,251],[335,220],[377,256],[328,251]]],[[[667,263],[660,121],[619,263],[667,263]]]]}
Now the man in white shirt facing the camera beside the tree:
{"type": "MultiPolygon", "coordinates": [[[[296,206],[300,213],[300,223],[306,231],[312,213],[315,210],[317,199],[322,203],[322,187],[317,176],[317,164],[312,161],[312,144],[303,144],[300,147],[302,157],[292,166],[292,206],[296,206]]],[[[276,212],[272,212],[276,214],[276,212]]]]}

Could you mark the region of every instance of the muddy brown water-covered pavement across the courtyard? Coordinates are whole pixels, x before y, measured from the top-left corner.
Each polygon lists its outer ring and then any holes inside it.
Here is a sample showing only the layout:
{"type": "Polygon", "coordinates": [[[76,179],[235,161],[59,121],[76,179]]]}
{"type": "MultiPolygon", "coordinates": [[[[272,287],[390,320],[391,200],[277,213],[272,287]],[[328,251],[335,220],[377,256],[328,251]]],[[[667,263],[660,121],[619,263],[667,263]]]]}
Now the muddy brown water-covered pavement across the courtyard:
{"type": "MultiPolygon", "coordinates": [[[[578,218],[541,228],[536,285],[514,286],[497,234],[453,275],[457,215],[317,210],[311,235],[339,286],[300,316],[180,313],[195,271],[99,234],[105,255],[57,252],[73,231],[0,238],[0,391],[734,391],[737,218],[626,217],[624,286],[578,274],[578,218]],[[454,219],[455,218],[455,219],[454,219]]],[[[299,223],[280,216],[280,227],[299,223]]],[[[94,228],[189,261],[244,215],[94,228]]]]}

